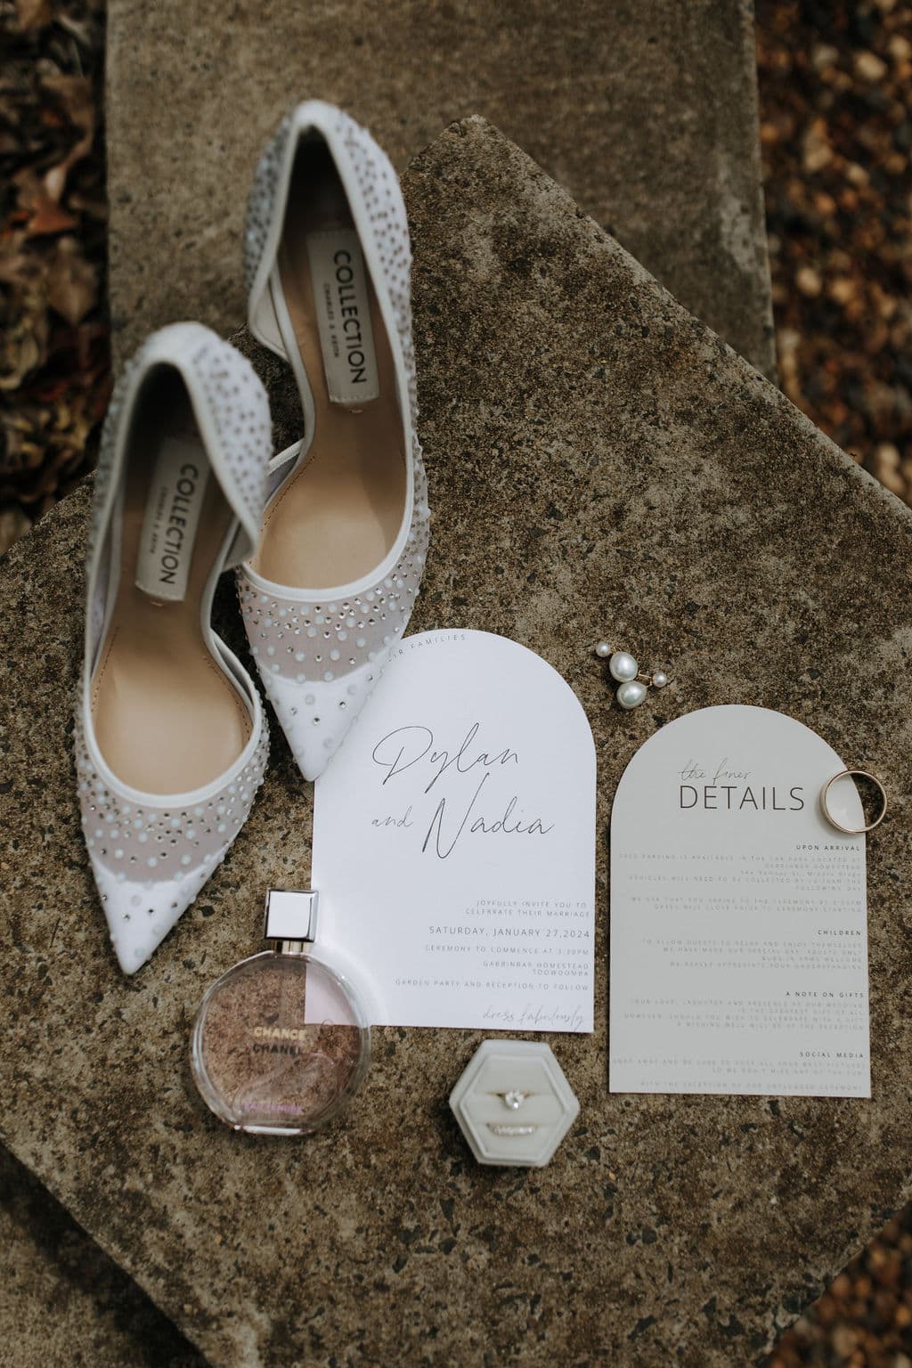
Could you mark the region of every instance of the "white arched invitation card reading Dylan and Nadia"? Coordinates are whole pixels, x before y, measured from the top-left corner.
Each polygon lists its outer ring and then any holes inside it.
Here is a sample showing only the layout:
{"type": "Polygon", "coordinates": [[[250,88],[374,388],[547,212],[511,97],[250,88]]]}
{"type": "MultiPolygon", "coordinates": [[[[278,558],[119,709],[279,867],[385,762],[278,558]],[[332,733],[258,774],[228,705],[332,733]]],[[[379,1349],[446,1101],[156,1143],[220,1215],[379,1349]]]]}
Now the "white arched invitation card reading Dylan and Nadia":
{"type": "Polygon", "coordinates": [[[591,1031],[595,747],[488,632],[407,636],[317,780],[313,886],[377,1025],[591,1031]]]}

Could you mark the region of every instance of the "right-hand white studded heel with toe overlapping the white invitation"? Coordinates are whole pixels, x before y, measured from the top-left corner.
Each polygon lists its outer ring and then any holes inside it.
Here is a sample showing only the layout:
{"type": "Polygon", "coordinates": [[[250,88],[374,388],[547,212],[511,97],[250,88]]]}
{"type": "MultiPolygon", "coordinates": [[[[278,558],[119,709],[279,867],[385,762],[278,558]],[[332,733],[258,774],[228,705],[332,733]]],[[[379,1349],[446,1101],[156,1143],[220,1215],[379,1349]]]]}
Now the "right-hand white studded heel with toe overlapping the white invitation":
{"type": "Polygon", "coordinates": [[[284,119],[253,182],[253,335],[291,365],[304,438],[271,465],[247,636],[305,778],[342,743],[402,636],[424,569],[409,226],[392,166],[340,109],[284,119]]]}

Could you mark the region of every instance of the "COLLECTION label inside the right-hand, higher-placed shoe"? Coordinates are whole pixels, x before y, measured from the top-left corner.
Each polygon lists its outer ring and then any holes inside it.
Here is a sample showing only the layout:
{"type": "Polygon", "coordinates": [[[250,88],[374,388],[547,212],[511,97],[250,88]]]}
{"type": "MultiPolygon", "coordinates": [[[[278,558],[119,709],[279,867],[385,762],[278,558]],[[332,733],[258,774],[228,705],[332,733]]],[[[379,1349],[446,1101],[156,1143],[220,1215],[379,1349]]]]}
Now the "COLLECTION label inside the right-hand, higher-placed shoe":
{"type": "Polygon", "coordinates": [[[360,406],[380,393],[368,274],[351,228],[308,234],[323,368],[334,404],[360,406]]]}

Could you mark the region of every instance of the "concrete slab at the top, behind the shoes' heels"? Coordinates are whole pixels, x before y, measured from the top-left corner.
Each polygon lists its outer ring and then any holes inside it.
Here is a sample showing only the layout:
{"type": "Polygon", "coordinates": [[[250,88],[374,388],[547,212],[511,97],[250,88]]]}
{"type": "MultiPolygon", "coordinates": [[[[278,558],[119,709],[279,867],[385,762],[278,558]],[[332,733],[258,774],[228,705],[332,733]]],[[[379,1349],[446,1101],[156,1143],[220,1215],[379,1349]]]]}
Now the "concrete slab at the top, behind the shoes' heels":
{"type": "Polygon", "coordinates": [[[152,327],[245,315],[250,175],[290,105],[366,123],[399,168],[481,114],[771,373],[752,0],[109,0],[111,301],[152,327]]]}

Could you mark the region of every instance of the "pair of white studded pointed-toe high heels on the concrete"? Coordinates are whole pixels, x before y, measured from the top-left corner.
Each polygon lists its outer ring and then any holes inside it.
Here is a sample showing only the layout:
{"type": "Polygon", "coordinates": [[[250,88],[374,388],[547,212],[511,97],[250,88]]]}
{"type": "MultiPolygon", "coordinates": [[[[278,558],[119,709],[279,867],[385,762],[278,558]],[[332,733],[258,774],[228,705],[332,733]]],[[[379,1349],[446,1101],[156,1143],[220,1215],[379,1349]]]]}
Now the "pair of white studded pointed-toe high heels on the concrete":
{"type": "Polygon", "coordinates": [[[208,328],[155,332],[105,420],[75,755],[82,825],[124,973],[243,825],[268,758],[257,689],[211,625],[237,568],[250,648],[316,778],[405,631],[428,544],[405,205],[390,161],[309,101],[257,168],[250,331],[289,361],[304,436],[272,457],[265,390],[208,328]]]}

